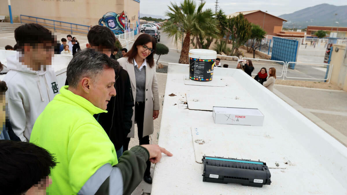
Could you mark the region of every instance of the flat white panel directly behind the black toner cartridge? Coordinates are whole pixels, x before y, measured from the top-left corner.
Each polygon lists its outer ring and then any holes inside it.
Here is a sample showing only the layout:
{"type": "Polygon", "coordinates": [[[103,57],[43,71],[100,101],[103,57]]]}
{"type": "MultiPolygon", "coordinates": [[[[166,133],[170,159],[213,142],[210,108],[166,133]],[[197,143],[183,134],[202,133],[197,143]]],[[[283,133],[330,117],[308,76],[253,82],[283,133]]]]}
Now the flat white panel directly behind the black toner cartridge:
{"type": "MultiPolygon", "coordinates": [[[[230,125],[231,126],[231,125],[230,125]]],[[[191,127],[195,161],[202,163],[202,156],[218,156],[248,160],[260,160],[272,169],[286,169],[292,156],[281,151],[283,145],[277,136],[259,128],[244,128],[240,125],[226,128],[191,127]],[[259,129],[255,131],[256,129],[259,129]],[[276,146],[276,150],[273,147],[276,146]],[[286,164],[287,163],[287,164],[286,164]]],[[[263,129],[269,129],[270,124],[263,129]]],[[[271,172],[271,170],[270,170],[271,172]]]]}

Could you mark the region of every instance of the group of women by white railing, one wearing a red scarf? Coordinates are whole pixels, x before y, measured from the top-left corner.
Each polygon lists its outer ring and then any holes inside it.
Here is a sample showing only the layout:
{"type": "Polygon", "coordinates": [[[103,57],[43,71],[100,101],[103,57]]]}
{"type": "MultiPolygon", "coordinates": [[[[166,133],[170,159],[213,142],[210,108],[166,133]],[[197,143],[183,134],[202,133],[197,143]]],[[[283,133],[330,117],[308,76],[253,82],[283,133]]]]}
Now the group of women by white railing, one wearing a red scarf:
{"type": "MultiPolygon", "coordinates": [[[[252,60],[247,60],[245,65],[242,65],[242,62],[239,61],[237,63],[236,69],[241,69],[245,71],[245,73],[247,73],[249,76],[252,76],[252,72],[254,70],[252,60]]],[[[268,74],[266,68],[263,67],[260,69],[259,73],[254,77],[254,79],[272,92],[273,86],[276,82],[276,69],[273,67],[269,68],[268,74]]]]}

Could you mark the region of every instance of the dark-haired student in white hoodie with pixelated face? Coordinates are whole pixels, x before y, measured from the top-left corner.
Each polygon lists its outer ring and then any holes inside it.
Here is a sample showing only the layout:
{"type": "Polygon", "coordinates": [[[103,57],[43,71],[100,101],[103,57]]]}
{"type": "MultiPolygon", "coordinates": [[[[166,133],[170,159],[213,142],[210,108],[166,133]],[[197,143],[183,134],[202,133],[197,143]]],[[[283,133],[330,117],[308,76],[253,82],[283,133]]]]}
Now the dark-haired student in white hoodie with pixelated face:
{"type": "Polygon", "coordinates": [[[15,39],[17,56],[7,58],[9,71],[3,80],[8,86],[12,129],[23,142],[29,142],[37,117],[59,92],[51,70],[56,41],[47,28],[33,23],[16,28],[15,39]]]}

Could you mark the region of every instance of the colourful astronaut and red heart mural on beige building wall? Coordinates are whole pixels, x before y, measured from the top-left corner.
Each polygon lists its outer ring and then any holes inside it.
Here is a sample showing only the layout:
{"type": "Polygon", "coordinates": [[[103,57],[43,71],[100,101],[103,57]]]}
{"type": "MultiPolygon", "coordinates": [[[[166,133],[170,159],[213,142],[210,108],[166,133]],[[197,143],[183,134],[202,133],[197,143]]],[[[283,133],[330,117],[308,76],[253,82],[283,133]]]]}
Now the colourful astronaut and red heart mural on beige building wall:
{"type": "Polygon", "coordinates": [[[120,14],[115,12],[107,12],[102,18],[99,19],[99,25],[106,26],[111,29],[116,35],[123,34],[124,31],[130,32],[133,29],[130,26],[130,20],[124,14],[124,11],[120,14]]]}

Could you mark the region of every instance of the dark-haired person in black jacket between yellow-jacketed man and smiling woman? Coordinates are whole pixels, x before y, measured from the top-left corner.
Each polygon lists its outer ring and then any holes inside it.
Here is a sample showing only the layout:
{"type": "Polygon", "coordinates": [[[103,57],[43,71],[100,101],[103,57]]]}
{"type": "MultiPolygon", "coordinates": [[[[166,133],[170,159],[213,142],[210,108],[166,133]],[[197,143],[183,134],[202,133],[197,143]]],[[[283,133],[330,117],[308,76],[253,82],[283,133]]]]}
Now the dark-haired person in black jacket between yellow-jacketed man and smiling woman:
{"type": "MultiPolygon", "coordinates": [[[[132,128],[132,117],[134,98],[130,84],[128,72],[124,70],[115,59],[113,54],[116,37],[112,31],[105,26],[93,26],[87,35],[87,48],[92,48],[95,52],[104,53],[114,59],[117,63],[116,74],[116,96],[112,96],[107,104],[107,113],[94,115],[102,128],[109,136],[117,152],[117,158],[123,154],[123,143],[132,128]]],[[[72,40],[71,40],[72,42],[72,40]]],[[[68,85],[66,80],[65,85],[68,85]]]]}

